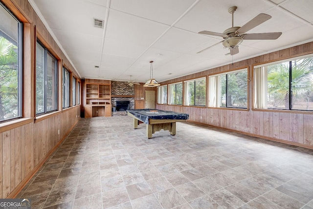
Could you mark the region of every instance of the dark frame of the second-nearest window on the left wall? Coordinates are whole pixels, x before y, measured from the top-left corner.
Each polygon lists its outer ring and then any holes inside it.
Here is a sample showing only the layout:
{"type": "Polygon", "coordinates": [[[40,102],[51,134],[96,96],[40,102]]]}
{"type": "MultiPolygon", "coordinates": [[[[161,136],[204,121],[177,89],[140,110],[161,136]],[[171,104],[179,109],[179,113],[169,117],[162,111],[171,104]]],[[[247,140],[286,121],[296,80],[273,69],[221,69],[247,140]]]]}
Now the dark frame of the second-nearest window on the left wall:
{"type": "MultiPolygon", "coordinates": [[[[47,47],[45,47],[45,45],[39,40],[37,39],[36,41],[36,47],[37,47],[37,44],[39,44],[40,46],[43,47],[44,49],[44,111],[41,112],[41,113],[37,113],[37,98],[35,99],[35,103],[36,103],[36,108],[35,108],[35,112],[36,112],[36,116],[42,116],[42,115],[45,115],[45,114],[49,114],[49,113],[52,113],[52,112],[56,112],[58,111],[58,59],[47,49],[47,47]],[[47,57],[48,55],[53,58],[55,60],[55,74],[54,74],[54,78],[55,78],[55,85],[54,85],[54,88],[55,88],[55,93],[54,93],[54,96],[55,96],[55,109],[53,110],[50,110],[48,111],[47,110],[47,88],[48,88],[48,85],[47,85],[47,74],[48,74],[48,64],[47,64],[47,57]]],[[[37,61],[36,61],[37,62],[37,61]]],[[[35,74],[37,73],[37,69],[35,70],[35,74]]],[[[36,79],[35,79],[36,80],[36,79]]],[[[35,81],[35,84],[37,83],[37,80],[35,81]]],[[[36,87],[37,88],[37,87],[36,87]]]]}

